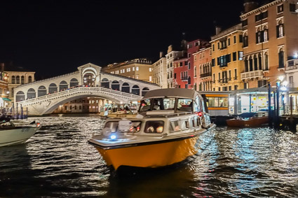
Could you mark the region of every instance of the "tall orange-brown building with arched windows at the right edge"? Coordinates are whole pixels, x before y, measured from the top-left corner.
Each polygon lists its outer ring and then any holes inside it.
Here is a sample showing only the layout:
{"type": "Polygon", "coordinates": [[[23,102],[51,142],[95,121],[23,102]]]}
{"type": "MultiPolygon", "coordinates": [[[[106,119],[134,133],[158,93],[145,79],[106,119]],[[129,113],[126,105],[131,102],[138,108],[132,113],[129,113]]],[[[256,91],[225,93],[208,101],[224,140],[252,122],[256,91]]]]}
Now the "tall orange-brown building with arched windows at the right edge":
{"type": "Polygon", "coordinates": [[[284,76],[287,59],[298,50],[297,0],[276,0],[263,6],[246,1],[243,26],[245,88],[274,86],[284,76]]]}

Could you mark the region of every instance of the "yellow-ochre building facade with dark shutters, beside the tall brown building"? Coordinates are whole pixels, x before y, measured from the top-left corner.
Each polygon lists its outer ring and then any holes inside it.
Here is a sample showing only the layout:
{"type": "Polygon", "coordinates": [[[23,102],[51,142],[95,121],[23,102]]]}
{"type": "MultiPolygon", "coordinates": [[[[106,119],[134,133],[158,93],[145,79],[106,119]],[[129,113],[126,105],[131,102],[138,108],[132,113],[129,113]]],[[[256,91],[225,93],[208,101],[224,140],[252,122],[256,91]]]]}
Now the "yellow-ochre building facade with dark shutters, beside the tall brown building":
{"type": "Polygon", "coordinates": [[[243,89],[243,31],[237,24],[211,37],[212,90],[231,91],[243,89]]]}

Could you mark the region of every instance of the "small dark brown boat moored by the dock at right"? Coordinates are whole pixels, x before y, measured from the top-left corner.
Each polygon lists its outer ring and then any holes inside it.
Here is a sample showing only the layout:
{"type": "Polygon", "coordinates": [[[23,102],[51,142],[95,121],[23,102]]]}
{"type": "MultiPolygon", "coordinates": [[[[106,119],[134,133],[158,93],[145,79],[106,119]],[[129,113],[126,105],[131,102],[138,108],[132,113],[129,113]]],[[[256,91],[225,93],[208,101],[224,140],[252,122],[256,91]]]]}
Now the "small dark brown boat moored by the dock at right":
{"type": "Polygon", "coordinates": [[[226,120],[229,127],[261,127],[269,123],[268,113],[242,113],[237,118],[226,120]]]}

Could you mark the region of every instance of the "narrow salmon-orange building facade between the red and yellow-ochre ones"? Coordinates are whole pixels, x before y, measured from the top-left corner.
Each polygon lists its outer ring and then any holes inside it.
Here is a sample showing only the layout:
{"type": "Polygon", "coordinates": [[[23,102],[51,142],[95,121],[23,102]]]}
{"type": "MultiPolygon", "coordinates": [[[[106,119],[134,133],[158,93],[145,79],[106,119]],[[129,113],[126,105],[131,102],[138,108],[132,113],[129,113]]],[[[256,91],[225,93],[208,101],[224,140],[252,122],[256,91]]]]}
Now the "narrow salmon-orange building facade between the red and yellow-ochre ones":
{"type": "Polygon", "coordinates": [[[212,50],[202,48],[194,54],[194,90],[212,90],[212,50]]]}

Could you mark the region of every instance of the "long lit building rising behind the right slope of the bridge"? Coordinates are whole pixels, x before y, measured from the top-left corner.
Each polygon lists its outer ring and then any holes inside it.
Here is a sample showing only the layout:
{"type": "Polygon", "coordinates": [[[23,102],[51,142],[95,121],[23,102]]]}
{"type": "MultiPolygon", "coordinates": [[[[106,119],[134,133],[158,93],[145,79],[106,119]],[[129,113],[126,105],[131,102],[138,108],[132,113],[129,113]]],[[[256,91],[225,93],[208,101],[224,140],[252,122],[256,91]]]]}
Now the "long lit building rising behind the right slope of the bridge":
{"type": "Polygon", "coordinates": [[[148,59],[133,59],[126,62],[109,64],[102,68],[102,71],[144,80],[149,83],[153,82],[152,63],[148,59]]]}

